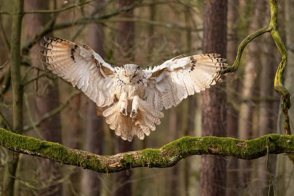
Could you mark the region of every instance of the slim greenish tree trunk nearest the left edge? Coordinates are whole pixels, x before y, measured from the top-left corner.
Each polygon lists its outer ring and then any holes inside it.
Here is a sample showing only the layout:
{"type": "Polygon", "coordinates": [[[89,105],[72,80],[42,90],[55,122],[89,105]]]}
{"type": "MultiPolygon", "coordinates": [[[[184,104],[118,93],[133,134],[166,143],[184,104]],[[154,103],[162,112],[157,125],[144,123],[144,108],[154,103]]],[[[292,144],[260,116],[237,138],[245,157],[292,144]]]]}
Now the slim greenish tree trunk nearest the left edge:
{"type": "MultiPolygon", "coordinates": [[[[12,16],[11,50],[10,50],[10,74],[13,92],[13,131],[23,133],[23,96],[24,88],[21,84],[21,32],[24,11],[24,0],[15,0],[14,15],[12,16]]],[[[15,176],[19,162],[19,154],[7,151],[7,163],[4,165],[2,195],[13,196],[15,188],[15,176]]]]}

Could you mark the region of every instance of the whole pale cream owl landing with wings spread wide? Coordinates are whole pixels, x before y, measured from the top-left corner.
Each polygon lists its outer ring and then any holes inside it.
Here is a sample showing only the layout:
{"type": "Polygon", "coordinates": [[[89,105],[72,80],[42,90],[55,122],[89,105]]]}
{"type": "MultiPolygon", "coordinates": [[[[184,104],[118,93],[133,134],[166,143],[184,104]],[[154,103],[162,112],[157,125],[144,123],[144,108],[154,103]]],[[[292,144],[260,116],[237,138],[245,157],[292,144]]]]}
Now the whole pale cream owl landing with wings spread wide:
{"type": "Polygon", "coordinates": [[[112,67],[86,44],[82,47],[60,38],[44,37],[41,51],[52,73],[77,86],[103,111],[106,123],[123,140],[155,130],[161,110],[178,105],[184,98],[216,84],[226,69],[220,54],[174,57],[162,65],[143,70],[135,64],[112,67]]]}

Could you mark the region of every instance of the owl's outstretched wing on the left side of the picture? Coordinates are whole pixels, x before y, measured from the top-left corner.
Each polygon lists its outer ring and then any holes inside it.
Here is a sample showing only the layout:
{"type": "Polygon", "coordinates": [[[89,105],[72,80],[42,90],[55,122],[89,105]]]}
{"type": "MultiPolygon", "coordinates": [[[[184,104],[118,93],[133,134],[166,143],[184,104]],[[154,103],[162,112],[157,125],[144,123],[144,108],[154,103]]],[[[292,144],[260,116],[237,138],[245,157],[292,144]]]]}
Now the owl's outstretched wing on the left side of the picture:
{"type": "Polygon", "coordinates": [[[83,44],[80,47],[60,38],[44,37],[47,43],[41,51],[52,73],[77,86],[98,106],[104,107],[114,102],[115,74],[119,68],[106,63],[93,49],[83,44]]]}

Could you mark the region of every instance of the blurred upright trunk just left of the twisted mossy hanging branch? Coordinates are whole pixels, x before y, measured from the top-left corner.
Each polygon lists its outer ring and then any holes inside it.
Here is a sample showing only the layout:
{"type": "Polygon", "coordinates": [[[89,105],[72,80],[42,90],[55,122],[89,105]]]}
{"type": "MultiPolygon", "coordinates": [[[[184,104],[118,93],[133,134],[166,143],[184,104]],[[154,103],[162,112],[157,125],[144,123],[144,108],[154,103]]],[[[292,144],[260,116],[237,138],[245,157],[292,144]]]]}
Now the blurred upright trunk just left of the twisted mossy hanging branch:
{"type": "MultiPolygon", "coordinates": [[[[268,25],[270,23],[270,6],[268,5],[267,0],[261,0],[260,2],[263,6],[266,4],[267,9],[259,10],[263,12],[265,19],[263,20],[263,25],[268,25]]],[[[280,7],[279,7],[280,8],[280,7]]],[[[279,9],[280,13],[280,9],[279,9]]],[[[280,21],[282,21],[281,17],[279,17],[279,25],[280,21]]],[[[280,29],[279,29],[280,30],[280,29]]],[[[261,56],[261,71],[260,71],[260,103],[259,103],[259,122],[258,122],[258,131],[259,137],[276,133],[276,121],[277,121],[277,111],[275,102],[270,101],[270,99],[276,98],[277,92],[274,91],[274,77],[275,71],[279,65],[279,57],[276,55],[279,53],[278,49],[276,49],[275,43],[271,38],[270,33],[266,33],[263,35],[263,54],[261,56]]],[[[275,176],[275,163],[276,163],[276,155],[270,155],[270,172],[272,176],[275,176]]],[[[259,158],[259,163],[261,164],[261,168],[259,169],[259,181],[258,182],[258,191],[259,195],[267,195],[269,192],[269,172],[266,168],[265,157],[259,158]]],[[[271,195],[273,196],[273,187],[270,190],[271,195]]]]}

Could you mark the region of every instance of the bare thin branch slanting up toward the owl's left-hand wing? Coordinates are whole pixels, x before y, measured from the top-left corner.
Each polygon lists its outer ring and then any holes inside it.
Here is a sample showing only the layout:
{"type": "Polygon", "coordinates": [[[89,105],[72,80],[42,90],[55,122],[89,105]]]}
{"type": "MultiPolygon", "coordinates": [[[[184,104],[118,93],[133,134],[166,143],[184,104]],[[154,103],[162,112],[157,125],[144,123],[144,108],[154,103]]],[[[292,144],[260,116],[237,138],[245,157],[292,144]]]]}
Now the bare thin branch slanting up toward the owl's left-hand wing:
{"type": "Polygon", "coordinates": [[[56,107],[54,110],[52,110],[52,111],[50,111],[50,112],[48,112],[48,113],[46,113],[46,114],[44,114],[37,122],[35,122],[35,123],[33,123],[32,125],[26,125],[26,126],[24,126],[24,131],[28,131],[28,130],[31,130],[31,129],[33,129],[34,128],[34,126],[35,127],[37,127],[37,126],[39,126],[43,121],[45,121],[45,120],[47,120],[48,118],[50,118],[50,117],[52,117],[53,115],[55,115],[55,114],[57,114],[57,113],[59,113],[59,112],[61,112],[69,103],[70,103],[70,100],[73,98],[73,97],[75,97],[75,96],[77,96],[77,95],[79,95],[79,94],[81,94],[81,91],[74,91],[70,96],[69,96],[69,98],[63,103],[63,104],[60,104],[58,107],[56,107]]]}

